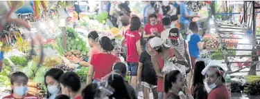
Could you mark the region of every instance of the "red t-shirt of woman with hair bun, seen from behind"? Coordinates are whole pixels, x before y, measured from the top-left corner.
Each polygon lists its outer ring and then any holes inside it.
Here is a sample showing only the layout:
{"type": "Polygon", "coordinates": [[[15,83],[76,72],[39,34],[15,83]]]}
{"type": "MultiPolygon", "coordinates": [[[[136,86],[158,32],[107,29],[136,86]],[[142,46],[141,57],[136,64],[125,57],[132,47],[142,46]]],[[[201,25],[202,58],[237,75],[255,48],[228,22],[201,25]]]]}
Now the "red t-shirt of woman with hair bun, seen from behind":
{"type": "Polygon", "coordinates": [[[112,67],[116,61],[120,61],[119,58],[112,54],[94,54],[90,64],[94,67],[94,80],[101,80],[107,74],[112,72],[112,67]]]}

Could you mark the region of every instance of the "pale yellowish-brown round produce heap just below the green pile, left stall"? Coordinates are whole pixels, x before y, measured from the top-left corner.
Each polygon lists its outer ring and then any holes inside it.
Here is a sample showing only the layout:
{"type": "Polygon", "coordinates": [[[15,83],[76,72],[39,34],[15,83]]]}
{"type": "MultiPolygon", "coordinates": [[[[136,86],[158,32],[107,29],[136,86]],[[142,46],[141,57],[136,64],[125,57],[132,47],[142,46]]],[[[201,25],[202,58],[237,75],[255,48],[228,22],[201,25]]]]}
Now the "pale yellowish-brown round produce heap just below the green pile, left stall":
{"type": "Polygon", "coordinates": [[[66,52],[64,56],[68,59],[78,59],[78,60],[83,60],[83,54],[80,53],[79,50],[71,50],[69,52],[66,52]]]}

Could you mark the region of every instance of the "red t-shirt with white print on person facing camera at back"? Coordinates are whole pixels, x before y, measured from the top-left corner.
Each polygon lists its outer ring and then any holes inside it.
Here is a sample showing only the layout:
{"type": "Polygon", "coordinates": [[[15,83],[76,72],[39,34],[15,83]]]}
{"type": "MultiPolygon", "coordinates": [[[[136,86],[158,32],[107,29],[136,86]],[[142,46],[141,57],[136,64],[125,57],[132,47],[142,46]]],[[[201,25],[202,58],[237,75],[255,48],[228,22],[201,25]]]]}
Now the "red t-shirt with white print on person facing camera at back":
{"type": "Polygon", "coordinates": [[[144,27],[144,31],[146,34],[152,34],[153,32],[161,34],[164,31],[164,27],[161,23],[157,23],[156,25],[151,25],[150,23],[146,24],[144,27]]]}

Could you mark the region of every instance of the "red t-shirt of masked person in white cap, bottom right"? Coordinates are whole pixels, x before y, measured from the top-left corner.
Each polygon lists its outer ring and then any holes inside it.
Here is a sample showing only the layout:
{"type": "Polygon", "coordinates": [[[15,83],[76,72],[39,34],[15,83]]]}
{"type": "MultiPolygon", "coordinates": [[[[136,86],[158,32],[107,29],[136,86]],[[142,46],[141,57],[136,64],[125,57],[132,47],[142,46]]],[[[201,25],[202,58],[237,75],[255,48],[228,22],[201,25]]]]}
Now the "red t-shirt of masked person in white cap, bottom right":
{"type": "Polygon", "coordinates": [[[219,87],[216,87],[215,89],[212,89],[209,92],[209,96],[208,96],[208,99],[230,99],[230,98],[231,96],[225,85],[221,85],[219,87]]]}

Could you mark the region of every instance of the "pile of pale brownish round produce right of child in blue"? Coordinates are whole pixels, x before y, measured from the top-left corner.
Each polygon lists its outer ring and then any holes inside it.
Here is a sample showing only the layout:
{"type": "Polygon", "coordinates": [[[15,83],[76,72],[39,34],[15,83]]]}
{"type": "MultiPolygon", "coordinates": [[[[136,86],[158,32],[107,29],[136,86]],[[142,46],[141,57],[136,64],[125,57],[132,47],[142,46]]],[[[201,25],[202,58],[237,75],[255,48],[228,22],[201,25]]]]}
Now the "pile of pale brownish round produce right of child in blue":
{"type": "Polygon", "coordinates": [[[207,50],[218,50],[219,43],[217,36],[203,36],[207,50]]]}

